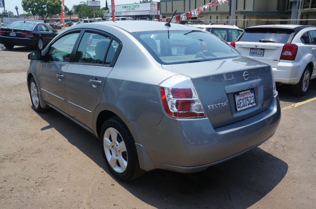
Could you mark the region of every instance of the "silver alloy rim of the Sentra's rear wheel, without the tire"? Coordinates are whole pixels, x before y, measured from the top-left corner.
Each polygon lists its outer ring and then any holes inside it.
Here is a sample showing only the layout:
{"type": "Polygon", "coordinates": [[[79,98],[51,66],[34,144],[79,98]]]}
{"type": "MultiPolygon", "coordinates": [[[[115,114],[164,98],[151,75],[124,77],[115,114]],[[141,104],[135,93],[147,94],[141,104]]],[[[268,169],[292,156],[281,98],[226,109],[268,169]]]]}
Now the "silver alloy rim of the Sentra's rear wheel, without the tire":
{"type": "Polygon", "coordinates": [[[103,137],[105,156],[110,166],[118,173],[127,167],[127,150],[123,138],[115,128],[108,128],[103,137]]]}

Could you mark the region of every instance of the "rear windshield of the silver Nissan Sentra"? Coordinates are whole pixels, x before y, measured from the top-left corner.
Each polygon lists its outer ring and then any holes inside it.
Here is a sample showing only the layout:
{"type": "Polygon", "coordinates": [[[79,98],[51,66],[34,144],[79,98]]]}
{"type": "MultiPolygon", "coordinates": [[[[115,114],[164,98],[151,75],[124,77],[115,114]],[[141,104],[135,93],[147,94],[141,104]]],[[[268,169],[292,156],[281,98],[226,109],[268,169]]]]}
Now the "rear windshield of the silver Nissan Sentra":
{"type": "Polygon", "coordinates": [[[131,33],[161,64],[240,57],[215,35],[201,30],[158,30],[131,33]]]}

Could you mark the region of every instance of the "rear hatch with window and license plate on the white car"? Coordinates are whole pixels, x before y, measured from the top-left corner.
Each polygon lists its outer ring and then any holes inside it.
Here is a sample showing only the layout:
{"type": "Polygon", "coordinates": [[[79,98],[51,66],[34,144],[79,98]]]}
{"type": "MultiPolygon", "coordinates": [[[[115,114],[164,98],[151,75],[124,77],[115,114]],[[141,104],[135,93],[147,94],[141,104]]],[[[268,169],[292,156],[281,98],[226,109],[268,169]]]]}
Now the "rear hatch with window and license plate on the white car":
{"type": "Polygon", "coordinates": [[[293,32],[282,28],[245,29],[236,42],[236,49],[244,56],[277,67],[283,46],[293,32]]]}

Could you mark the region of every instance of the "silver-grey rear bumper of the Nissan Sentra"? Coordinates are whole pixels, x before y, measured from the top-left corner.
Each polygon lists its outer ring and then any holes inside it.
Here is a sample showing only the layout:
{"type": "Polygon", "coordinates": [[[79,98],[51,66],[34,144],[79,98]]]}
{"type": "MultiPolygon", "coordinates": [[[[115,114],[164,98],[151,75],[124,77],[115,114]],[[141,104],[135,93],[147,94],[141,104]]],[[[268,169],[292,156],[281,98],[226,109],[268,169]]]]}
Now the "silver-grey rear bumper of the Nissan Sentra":
{"type": "Polygon", "coordinates": [[[133,123],[140,166],[192,173],[259,146],[276,131],[278,96],[266,111],[233,124],[213,128],[209,119],[163,117],[158,126],[133,123]]]}

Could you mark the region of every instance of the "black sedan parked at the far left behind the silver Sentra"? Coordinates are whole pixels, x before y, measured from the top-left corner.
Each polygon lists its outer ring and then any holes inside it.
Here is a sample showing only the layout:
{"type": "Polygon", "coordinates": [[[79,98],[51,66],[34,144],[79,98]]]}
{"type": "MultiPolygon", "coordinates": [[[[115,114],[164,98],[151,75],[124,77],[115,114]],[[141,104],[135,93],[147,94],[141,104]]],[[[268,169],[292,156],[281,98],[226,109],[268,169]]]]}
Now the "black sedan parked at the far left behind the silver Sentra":
{"type": "Polygon", "coordinates": [[[57,30],[45,23],[16,21],[0,29],[0,43],[7,49],[17,45],[41,50],[57,34],[57,30]]]}

